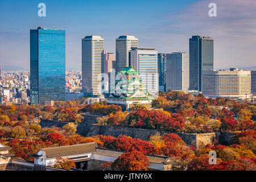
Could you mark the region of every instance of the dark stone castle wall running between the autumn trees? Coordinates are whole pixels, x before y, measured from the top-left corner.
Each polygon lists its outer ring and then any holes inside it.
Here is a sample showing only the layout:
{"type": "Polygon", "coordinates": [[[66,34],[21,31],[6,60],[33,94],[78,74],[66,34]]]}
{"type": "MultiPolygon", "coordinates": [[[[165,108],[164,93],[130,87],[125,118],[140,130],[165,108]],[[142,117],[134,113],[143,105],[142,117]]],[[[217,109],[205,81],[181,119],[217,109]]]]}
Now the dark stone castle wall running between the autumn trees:
{"type": "MultiPolygon", "coordinates": [[[[142,140],[149,140],[151,136],[159,134],[163,136],[167,133],[174,133],[171,131],[149,130],[149,129],[137,129],[131,127],[118,127],[118,126],[98,126],[97,117],[100,115],[83,115],[84,120],[81,123],[77,123],[77,134],[84,137],[92,135],[112,135],[118,137],[119,135],[127,135],[132,138],[140,138],[142,140]]],[[[42,127],[63,127],[68,122],[59,121],[45,121],[42,120],[40,125],[42,127]]],[[[204,147],[207,144],[232,144],[234,133],[217,132],[217,133],[201,133],[201,134],[187,134],[187,133],[175,133],[181,137],[187,145],[192,145],[196,148],[204,147]]]]}

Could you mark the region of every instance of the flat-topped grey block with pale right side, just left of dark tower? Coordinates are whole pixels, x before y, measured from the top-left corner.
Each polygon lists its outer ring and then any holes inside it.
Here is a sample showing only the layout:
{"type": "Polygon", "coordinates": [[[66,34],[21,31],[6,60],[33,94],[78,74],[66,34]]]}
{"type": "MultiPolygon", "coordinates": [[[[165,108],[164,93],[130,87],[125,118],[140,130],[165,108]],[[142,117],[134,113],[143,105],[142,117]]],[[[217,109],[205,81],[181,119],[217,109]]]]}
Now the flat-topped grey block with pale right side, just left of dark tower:
{"type": "Polygon", "coordinates": [[[188,90],[189,58],[188,53],[167,53],[166,90],[188,90]]]}

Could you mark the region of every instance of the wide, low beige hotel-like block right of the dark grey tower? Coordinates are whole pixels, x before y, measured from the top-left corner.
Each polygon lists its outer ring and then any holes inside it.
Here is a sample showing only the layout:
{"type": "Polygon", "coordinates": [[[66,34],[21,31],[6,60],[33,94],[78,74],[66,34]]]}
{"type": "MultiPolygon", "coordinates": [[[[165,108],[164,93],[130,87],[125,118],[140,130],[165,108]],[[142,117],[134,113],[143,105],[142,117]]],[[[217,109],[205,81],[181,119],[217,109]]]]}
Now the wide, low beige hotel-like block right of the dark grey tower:
{"type": "Polygon", "coordinates": [[[241,69],[221,69],[203,72],[202,93],[206,97],[224,97],[235,100],[251,96],[251,73],[241,69]]]}

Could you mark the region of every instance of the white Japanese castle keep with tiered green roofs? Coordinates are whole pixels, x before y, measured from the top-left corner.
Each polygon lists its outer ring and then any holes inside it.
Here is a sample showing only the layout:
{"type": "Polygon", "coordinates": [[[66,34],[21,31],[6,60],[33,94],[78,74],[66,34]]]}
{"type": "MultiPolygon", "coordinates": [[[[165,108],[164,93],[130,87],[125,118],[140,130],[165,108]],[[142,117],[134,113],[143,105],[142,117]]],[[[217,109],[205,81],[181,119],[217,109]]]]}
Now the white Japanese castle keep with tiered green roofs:
{"type": "Polygon", "coordinates": [[[135,105],[151,107],[152,96],[144,89],[139,80],[139,72],[133,67],[125,67],[119,72],[112,88],[114,90],[111,90],[106,100],[108,104],[120,105],[123,110],[129,110],[135,105]]]}

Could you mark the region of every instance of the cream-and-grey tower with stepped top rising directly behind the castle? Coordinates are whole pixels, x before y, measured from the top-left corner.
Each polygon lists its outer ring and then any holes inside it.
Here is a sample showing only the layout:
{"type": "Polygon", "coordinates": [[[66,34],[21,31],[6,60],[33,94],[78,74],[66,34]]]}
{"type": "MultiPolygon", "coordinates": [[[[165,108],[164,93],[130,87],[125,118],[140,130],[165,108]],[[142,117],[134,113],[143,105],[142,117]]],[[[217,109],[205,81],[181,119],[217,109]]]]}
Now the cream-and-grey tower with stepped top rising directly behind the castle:
{"type": "Polygon", "coordinates": [[[115,73],[129,67],[131,47],[138,47],[138,39],[131,35],[122,35],[115,39],[115,73]]]}

